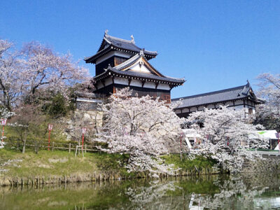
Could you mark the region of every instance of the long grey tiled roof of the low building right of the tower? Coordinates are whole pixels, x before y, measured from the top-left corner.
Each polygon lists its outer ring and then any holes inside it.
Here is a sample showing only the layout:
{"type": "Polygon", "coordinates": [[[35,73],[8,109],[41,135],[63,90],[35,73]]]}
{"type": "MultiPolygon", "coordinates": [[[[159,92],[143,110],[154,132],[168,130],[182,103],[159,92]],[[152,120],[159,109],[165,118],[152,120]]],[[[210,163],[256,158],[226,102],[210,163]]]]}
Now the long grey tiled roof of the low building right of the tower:
{"type": "Polygon", "coordinates": [[[206,104],[215,104],[218,102],[235,101],[238,99],[249,98],[257,104],[262,104],[263,101],[255,97],[250,83],[238,87],[232,87],[225,90],[218,90],[214,92],[207,92],[203,94],[196,94],[188,97],[172,99],[172,102],[181,99],[182,104],[178,108],[201,106],[206,104]]]}

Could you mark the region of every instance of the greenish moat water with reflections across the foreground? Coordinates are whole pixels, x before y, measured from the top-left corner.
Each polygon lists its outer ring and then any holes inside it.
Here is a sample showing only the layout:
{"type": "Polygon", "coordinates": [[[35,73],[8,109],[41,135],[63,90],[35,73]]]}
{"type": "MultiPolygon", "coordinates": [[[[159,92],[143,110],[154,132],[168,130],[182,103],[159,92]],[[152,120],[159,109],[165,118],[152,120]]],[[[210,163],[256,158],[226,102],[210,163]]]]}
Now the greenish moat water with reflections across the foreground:
{"type": "Polygon", "coordinates": [[[280,209],[280,174],[0,188],[0,209],[280,209]]]}

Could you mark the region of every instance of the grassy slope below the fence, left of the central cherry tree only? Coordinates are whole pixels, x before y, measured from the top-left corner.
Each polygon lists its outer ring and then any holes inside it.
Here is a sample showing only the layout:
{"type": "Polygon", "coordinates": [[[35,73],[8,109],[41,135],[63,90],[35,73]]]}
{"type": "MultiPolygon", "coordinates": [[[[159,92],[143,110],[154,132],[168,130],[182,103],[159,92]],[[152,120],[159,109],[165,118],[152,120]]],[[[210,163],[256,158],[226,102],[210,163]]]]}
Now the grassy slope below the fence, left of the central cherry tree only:
{"type": "Polygon", "coordinates": [[[64,176],[65,174],[87,174],[92,172],[125,172],[125,155],[106,153],[84,153],[75,157],[74,152],[27,150],[25,154],[15,150],[1,149],[0,164],[8,160],[19,160],[7,165],[6,176],[64,176]]]}

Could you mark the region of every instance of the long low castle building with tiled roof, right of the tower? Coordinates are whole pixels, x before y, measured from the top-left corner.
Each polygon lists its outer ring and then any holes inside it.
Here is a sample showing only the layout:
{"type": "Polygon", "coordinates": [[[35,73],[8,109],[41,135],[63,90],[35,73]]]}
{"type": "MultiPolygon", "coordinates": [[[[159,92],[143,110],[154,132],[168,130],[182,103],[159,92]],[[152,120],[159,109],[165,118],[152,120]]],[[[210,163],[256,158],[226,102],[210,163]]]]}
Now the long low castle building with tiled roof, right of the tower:
{"type": "Polygon", "coordinates": [[[255,96],[248,81],[246,85],[172,99],[172,102],[179,101],[180,99],[182,104],[174,111],[177,116],[184,118],[194,111],[202,111],[204,108],[218,109],[219,106],[228,106],[231,109],[244,109],[246,115],[253,114],[255,113],[255,105],[264,103],[264,101],[255,96]]]}

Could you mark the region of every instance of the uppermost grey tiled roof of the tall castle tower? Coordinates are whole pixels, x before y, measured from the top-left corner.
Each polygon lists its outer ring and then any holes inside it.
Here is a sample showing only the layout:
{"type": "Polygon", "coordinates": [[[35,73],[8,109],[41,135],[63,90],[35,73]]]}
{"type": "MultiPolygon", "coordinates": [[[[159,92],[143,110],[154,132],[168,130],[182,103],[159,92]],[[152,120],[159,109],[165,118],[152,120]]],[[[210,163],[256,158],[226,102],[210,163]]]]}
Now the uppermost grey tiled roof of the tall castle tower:
{"type": "Polygon", "coordinates": [[[87,63],[95,63],[96,60],[99,57],[102,57],[107,52],[113,50],[120,50],[123,52],[128,52],[132,55],[135,55],[140,52],[140,50],[144,51],[144,54],[146,55],[146,59],[152,59],[158,55],[158,52],[156,51],[148,51],[144,50],[144,48],[139,48],[137,45],[135,45],[134,37],[132,36],[132,40],[125,40],[123,38],[117,38],[114,36],[110,36],[107,34],[108,31],[105,32],[102,43],[97,50],[97,53],[95,55],[92,55],[90,57],[85,57],[85,62],[87,63]]]}

